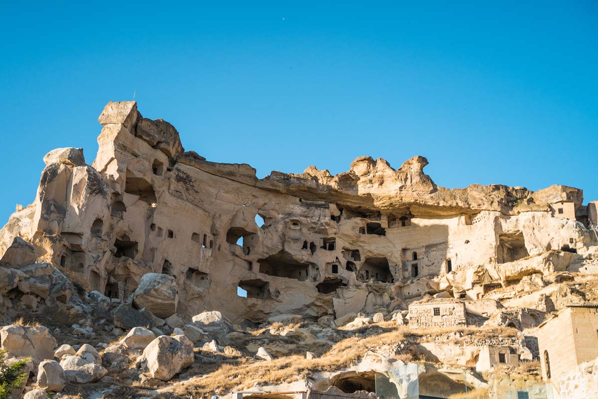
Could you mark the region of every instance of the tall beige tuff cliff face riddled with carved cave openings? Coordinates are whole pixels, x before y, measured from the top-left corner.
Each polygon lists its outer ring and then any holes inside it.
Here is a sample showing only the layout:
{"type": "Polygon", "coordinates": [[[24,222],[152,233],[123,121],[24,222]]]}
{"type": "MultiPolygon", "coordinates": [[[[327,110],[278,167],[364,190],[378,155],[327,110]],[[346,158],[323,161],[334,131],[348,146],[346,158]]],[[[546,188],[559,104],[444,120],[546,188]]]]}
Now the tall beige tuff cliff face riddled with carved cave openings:
{"type": "MultiPolygon", "coordinates": [[[[503,269],[591,238],[576,221],[576,188],[449,190],[423,172],[420,156],[399,169],[359,157],[335,176],[310,166],[257,179],[249,165],[185,152],[176,129],[143,118],[135,102],[108,103],[99,121],[92,166],[80,149],[45,157],[35,202],[0,232],[1,262],[19,269],[36,250],[36,261],[87,290],[122,301],[134,294],[133,306],[161,318],[214,309],[233,322],[338,318],[415,296],[416,283],[433,292],[438,279],[441,291],[477,297],[475,284],[451,273],[503,269]]],[[[0,276],[2,292],[20,279],[0,276]]],[[[42,296],[43,284],[33,285],[42,296]]]]}

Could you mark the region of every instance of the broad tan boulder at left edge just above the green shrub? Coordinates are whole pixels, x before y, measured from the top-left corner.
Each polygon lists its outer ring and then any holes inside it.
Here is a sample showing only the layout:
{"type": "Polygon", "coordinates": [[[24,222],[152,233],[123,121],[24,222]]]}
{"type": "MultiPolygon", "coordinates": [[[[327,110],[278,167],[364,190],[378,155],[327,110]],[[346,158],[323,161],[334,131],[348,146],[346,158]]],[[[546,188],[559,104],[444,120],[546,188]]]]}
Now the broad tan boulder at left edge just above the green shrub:
{"type": "Polygon", "coordinates": [[[35,364],[54,358],[56,339],[42,325],[21,327],[5,325],[0,329],[1,345],[14,357],[30,357],[35,364]]]}

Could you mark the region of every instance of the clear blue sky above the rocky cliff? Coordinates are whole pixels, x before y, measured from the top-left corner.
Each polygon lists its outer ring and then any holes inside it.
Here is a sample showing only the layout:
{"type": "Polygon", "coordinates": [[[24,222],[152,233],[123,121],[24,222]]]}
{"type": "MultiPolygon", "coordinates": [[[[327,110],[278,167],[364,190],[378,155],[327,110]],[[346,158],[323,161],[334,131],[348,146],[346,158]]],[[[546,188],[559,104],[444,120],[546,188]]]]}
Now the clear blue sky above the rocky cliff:
{"type": "Polygon", "coordinates": [[[280,3],[5,4],[1,223],[32,202],[47,151],[91,163],[103,106],[135,91],[187,150],[260,177],[422,155],[445,187],[598,199],[596,1],[280,3]]]}

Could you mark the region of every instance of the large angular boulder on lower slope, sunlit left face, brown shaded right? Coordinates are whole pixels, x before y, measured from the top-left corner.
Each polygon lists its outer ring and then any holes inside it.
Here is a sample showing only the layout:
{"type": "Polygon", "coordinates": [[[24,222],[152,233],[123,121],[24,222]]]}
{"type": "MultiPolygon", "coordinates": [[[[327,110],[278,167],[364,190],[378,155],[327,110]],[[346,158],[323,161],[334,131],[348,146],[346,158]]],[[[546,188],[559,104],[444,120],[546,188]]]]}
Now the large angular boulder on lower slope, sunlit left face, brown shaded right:
{"type": "Polygon", "coordinates": [[[139,361],[141,370],[152,378],[170,380],[193,364],[193,342],[182,335],[157,337],[144,349],[139,361]]]}

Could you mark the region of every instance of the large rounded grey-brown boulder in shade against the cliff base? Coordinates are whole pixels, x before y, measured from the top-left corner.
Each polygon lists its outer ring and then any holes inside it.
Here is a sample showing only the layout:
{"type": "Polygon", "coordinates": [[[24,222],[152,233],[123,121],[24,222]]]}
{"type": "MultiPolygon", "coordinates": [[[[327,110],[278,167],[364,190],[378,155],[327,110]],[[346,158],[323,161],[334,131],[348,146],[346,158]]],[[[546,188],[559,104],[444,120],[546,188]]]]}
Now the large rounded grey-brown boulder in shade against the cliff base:
{"type": "Polygon", "coordinates": [[[160,273],[147,273],[133,293],[133,306],[146,308],[155,316],[167,318],[176,312],[179,295],[175,278],[160,273]]]}

